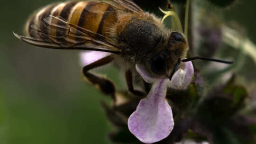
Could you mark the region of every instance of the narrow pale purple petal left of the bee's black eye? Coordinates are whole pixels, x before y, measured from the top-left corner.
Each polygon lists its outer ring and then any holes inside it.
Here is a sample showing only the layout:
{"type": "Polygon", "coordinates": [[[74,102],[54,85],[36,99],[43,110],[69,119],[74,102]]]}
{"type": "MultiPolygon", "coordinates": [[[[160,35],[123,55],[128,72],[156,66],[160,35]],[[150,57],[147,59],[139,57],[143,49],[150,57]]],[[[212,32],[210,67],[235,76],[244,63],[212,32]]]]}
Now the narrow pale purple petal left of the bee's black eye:
{"type": "Polygon", "coordinates": [[[147,83],[153,83],[156,78],[154,78],[144,67],[144,65],[141,64],[136,64],[136,70],[137,72],[141,75],[141,77],[143,78],[144,81],[146,81],[147,83]]]}

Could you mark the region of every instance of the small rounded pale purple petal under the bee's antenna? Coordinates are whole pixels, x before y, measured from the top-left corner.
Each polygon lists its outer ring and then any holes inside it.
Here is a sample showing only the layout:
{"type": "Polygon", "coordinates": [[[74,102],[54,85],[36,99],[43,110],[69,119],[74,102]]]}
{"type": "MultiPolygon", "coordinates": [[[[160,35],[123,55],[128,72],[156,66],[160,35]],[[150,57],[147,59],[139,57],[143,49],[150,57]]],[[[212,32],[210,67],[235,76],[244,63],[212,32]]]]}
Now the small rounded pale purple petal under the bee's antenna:
{"type": "Polygon", "coordinates": [[[179,69],[174,73],[172,80],[169,83],[169,87],[177,90],[186,89],[191,83],[194,75],[194,68],[192,62],[184,62],[183,69],[179,69]]]}

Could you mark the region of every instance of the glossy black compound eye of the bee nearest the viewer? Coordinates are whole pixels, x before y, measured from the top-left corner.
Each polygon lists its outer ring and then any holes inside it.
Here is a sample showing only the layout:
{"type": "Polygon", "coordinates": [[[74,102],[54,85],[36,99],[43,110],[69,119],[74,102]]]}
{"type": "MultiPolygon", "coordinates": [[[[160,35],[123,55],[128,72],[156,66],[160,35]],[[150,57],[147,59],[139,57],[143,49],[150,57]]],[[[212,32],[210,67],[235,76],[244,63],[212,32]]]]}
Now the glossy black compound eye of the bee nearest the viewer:
{"type": "Polygon", "coordinates": [[[151,61],[151,71],[156,75],[165,75],[165,57],[162,55],[155,55],[151,61]]]}

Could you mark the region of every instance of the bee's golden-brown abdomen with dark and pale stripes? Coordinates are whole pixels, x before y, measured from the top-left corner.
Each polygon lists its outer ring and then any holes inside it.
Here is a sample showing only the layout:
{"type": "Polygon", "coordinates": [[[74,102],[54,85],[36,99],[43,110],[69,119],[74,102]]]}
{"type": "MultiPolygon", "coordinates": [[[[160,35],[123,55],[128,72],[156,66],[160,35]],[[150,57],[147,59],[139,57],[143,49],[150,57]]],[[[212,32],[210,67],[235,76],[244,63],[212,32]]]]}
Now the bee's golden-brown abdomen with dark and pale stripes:
{"type": "MultiPolygon", "coordinates": [[[[104,36],[109,34],[108,27],[111,27],[111,23],[117,21],[116,11],[109,4],[99,1],[67,1],[49,5],[32,15],[27,21],[25,29],[27,36],[45,39],[46,37],[40,35],[40,32],[56,36],[56,40],[58,40],[58,36],[63,36],[63,29],[47,27],[43,22],[44,18],[48,18],[50,15],[104,36]]],[[[48,22],[53,25],[62,25],[62,22],[56,18],[50,18],[48,22]]]]}

